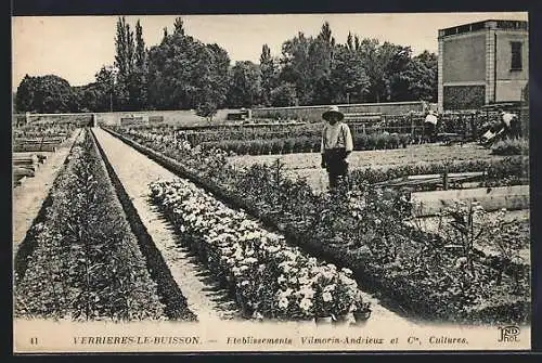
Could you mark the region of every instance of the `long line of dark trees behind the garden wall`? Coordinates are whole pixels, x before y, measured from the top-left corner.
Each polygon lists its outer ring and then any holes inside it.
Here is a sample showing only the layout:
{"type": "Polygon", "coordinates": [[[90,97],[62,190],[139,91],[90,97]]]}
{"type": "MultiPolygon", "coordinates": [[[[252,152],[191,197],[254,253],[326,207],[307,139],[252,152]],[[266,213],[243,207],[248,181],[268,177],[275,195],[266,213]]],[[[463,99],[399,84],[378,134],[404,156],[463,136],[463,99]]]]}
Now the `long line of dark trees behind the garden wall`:
{"type": "Polygon", "coordinates": [[[289,106],[437,99],[437,55],[413,55],[410,47],[349,34],[337,42],[328,23],[315,37],[298,33],[272,56],[261,48],[259,63],[232,64],[219,44],[188,35],[182,18],[159,44],[147,48],[141,23],[134,29],[119,17],[115,61],[95,80],[72,87],[55,75],[21,81],[17,112],[107,112],[289,106]]]}

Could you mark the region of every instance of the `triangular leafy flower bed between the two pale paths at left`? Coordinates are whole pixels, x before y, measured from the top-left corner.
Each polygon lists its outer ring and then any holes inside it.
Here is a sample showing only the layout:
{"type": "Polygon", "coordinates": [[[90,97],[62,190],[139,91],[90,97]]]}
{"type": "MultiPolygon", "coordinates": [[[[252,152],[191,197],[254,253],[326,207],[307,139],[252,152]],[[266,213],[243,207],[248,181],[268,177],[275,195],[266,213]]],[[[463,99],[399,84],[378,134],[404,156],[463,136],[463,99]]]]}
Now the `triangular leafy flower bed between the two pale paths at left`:
{"type": "Polygon", "coordinates": [[[156,284],[88,131],[74,145],[50,200],[15,258],[15,316],[164,319],[156,284]]]}

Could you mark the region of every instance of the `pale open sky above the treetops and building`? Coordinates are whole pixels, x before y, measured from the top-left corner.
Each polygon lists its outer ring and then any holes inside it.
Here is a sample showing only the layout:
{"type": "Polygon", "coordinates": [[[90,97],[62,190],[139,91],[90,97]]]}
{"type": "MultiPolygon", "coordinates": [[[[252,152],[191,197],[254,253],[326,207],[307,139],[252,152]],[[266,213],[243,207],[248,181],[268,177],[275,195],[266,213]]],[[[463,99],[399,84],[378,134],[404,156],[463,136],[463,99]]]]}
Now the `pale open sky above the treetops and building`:
{"type": "MultiPolygon", "coordinates": [[[[282,43],[298,31],[317,36],[328,22],[338,43],[349,31],[360,38],[376,38],[410,46],[414,54],[437,53],[438,29],[494,20],[528,20],[521,13],[417,13],[417,14],[279,14],[279,15],[180,15],[185,33],[205,43],[218,43],[232,61],[259,63],[267,43],[273,56],[282,43]]],[[[147,48],[157,44],[164,27],[171,33],[177,15],[126,16],[133,29],[140,20],[147,48]]],[[[12,18],[12,87],[23,77],[56,75],[72,86],[94,81],[103,65],[115,59],[118,16],[14,16],[12,18]]]]}

